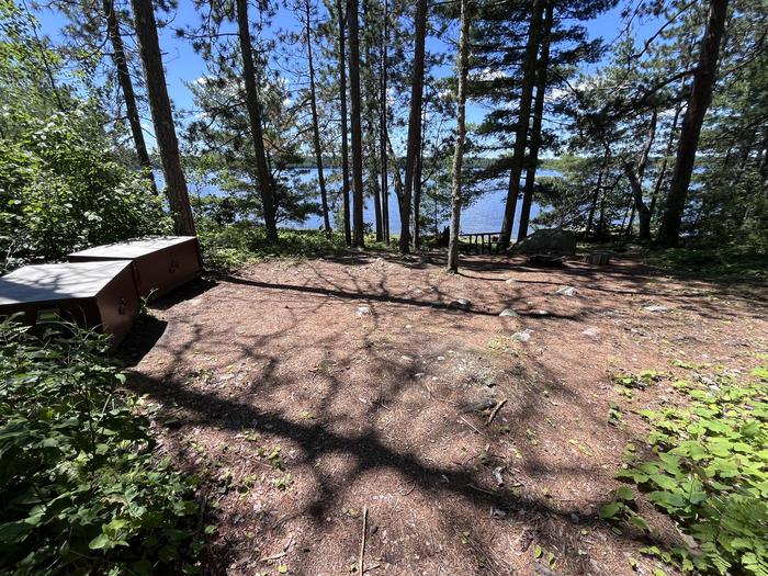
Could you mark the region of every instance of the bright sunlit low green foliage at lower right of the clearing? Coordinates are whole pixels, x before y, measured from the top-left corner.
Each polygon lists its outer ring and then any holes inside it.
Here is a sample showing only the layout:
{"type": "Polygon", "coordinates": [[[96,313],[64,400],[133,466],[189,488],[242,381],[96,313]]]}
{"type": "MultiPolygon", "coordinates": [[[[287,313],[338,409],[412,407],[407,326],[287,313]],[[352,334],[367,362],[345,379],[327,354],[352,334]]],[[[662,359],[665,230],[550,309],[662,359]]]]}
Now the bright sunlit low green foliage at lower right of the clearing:
{"type": "MultiPolygon", "coordinates": [[[[618,477],[646,493],[690,537],[688,546],[646,552],[685,571],[768,575],[768,370],[745,382],[718,375],[715,384],[676,386],[686,407],[644,410],[656,456],[634,451],[618,477]]],[[[622,486],[602,518],[623,518],[643,530],[634,496],[622,486]]]]}

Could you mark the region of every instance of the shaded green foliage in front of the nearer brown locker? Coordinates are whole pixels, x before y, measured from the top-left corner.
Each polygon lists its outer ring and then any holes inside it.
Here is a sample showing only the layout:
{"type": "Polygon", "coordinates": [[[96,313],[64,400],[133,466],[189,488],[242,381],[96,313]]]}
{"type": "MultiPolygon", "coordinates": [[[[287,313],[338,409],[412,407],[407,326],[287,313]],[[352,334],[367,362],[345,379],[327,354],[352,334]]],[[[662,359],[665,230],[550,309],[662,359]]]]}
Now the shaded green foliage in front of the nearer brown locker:
{"type": "Polygon", "coordinates": [[[67,328],[0,324],[0,573],[194,573],[194,478],[153,455],[106,340],[67,328]]]}

